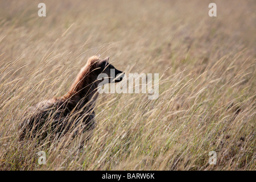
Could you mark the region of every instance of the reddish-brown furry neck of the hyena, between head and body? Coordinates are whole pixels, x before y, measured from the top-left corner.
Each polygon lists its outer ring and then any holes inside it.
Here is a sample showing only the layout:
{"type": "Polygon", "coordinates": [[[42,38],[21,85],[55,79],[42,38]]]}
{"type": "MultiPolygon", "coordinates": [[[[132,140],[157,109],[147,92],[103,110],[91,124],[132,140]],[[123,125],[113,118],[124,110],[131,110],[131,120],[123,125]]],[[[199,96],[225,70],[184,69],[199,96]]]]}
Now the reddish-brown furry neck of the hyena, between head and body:
{"type": "Polygon", "coordinates": [[[63,96],[69,107],[81,108],[85,105],[93,107],[98,96],[96,80],[97,75],[90,70],[90,67],[82,68],[69,92],[63,96]]]}

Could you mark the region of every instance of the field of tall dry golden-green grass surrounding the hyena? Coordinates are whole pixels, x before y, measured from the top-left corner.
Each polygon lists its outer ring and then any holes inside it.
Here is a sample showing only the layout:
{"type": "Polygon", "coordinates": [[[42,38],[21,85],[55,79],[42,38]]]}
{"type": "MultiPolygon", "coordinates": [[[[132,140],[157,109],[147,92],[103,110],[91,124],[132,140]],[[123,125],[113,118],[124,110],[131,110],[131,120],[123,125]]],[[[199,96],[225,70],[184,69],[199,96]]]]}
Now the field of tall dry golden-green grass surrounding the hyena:
{"type": "Polygon", "coordinates": [[[46,17],[39,2],[0,0],[1,170],[256,169],[254,0],[214,1],[217,17],[212,1],[44,1],[46,17]],[[98,54],[159,73],[159,98],[100,94],[82,150],[19,142],[26,109],[66,93],[98,54]]]}

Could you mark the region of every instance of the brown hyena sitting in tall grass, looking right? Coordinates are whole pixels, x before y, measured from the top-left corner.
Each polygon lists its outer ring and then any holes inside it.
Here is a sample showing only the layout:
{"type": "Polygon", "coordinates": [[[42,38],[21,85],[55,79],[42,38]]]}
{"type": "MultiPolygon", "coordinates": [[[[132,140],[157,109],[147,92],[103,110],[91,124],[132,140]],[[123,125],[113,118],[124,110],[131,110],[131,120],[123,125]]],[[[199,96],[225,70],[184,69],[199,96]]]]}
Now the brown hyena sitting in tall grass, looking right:
{"type": "Polygon", "coordinates": [[[20,124],[20,140],[25,137],[42,140],[49,134],[54,138],[65,134],[76,136],[92,131],[96,125],[94,105],[98,96],[97,87],[101,82],[97,79],[100,73],[107,74],[109,82],[119,82],[124,76],[123,72],[109,64],[109,57],[90,57],[64,96],[39,102],[28,109],[20,124]],[[114,78],[110,77],[110,70],[113,69],[114,78]]]}

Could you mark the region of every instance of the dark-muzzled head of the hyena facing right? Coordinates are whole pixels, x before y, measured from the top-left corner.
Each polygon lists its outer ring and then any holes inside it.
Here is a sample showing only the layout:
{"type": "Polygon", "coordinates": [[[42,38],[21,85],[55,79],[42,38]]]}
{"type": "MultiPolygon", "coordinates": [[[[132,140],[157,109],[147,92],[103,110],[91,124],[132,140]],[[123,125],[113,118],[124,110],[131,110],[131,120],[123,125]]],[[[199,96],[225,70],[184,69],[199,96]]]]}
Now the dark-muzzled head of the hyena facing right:
{"type": "Polygon", "coordinates": [[[125,73],[119,71],[109,63],[109,57],[98,59],[94,65],[98,75],[97,80],[104,80],[105,84],[122,81],[123,76],[125,76],[125,73]]]}

